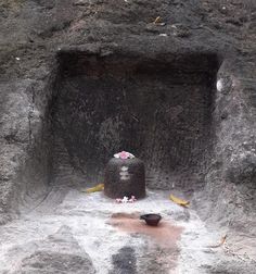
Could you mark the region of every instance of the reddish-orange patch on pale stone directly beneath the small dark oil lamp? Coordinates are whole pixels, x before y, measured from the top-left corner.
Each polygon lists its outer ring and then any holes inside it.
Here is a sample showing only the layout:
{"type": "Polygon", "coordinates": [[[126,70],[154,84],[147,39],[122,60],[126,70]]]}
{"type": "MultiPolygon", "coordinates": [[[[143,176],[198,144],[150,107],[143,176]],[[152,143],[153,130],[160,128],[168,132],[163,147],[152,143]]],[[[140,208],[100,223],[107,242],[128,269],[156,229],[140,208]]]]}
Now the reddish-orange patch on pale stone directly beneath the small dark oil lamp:
{"type": "Polygon", "coordinates": [[[177,249],[177,241],[183,231],[181,226],[171,225],[167,221],[161,221],[158,226],[146,225],[138,213],[115,213],[110,224],[123,232],[148,235],[161,247],[170,249],[177,249]]]}

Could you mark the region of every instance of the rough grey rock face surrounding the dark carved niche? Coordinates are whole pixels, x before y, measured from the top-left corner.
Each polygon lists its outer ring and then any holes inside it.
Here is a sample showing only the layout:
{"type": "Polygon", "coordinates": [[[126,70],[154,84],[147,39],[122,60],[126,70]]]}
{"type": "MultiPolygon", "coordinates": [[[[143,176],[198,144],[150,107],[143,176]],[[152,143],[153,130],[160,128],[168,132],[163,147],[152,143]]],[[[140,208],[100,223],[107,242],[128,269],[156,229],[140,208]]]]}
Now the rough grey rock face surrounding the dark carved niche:
{"type": "MultiPolygon", "coordinates": [[[[210,99],[213,109],[207,114],[210,116],[207,126],[212,121],[208,138],[213,141],[212,152],[202,154],[208,159],[199,165],[196,175],[180,171],[177,175],[168,175],[169,179],[159,187],[171,188],[184,180],[187,189],[188,186],[190,190],[196,189],[194,204],[209,225],[227,229],[238,249],[239,246],[245,251],[254,248],[255,1],[4,0],[0,3],[0,223],[15,216],[18,204],[35,205],[43,199],[56,163],[59,170],[66,172],[65,179],[59,176],[57,183],[74,185],[76,182],[73,184],[72,179],[77,180],[76,176],[79,182],[85,180],[86,171],[84,165],[79,166],[79,158],[72,158],[63,140],[52,133],[56,130],[52,125],[57,119],[55,116],[52,123],[54,113],[51,110],[61,100],[57,85],[63,85],[64,94],[66,87],[59,78],[63,67],[61,54],[94,55],[98,64],[99,60],[113,54],[129,57],[132,53],[139,61],[151,60],[152,63],[171,55],[177,57],[175,64],[178,65],[180,57],[203,52],[217,57],[220,67],[214,66],[210,75],[214,76],[218,68],[217,79],[223,83],[210,99]],[[166,24],[153,24],[156,16],[162,16],[166,24]],[[56,157],[59,153],[62,157],[56,157]],[[187,175],[180,177],[181,173],[187,175]]],[[[163,70],[155,75],[161,83],[170,84],[163,70]]],[[[153,79],[148,84],[152,85],[153,79]]],[[[131,80],[127,83],[130,85],[131,80]]],[[[185,107],[185,102],[182,105],[185,107]]],[[[163,111],[167,109],[162,108],[163,111]]],[[[207,130],[204,133],[207,139],[207,130]]],[[[193,149],[187,151],[194,153],[193,149]]],[[[177,186],[182,187],[181,184],[177,186]]]]}

